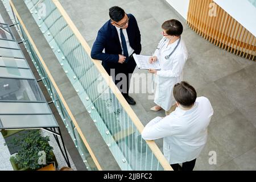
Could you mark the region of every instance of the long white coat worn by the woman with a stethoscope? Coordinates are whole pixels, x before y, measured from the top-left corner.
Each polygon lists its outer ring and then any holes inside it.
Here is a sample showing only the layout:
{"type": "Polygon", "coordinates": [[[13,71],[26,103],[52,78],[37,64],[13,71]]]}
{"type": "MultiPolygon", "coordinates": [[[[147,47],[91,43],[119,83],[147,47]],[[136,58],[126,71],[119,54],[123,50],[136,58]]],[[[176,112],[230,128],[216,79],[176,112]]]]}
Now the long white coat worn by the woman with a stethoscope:
{"type": "Polygon", "coordinates": [[[188,58],[188,51],[181,38],[175,52],[166,60],[164,57],[174,50],[179,39],[170,45],[168,45],[169,39],[166,39],[166,41],[164,39],[166,38],[160,40],[159,49],[156,48],[154,52],[154,56],[158,57],[161,68],[154,78],[156,82],[154,102],[168,111],[175,104],[172,90],[177,82],[183,80],[183,67],[188,58]]]}

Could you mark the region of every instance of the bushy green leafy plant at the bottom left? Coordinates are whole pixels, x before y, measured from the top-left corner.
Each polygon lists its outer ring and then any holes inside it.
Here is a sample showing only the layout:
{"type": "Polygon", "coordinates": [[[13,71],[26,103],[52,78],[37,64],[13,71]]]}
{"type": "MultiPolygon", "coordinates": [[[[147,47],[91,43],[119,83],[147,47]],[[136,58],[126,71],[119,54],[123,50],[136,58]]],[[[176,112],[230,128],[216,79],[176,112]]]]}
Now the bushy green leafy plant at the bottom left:
{"type": "Polygon", "coordinates": [[[11,156],[19,168],[38,169],[52,162],[51,155],[53,147],[49,145],[49,137],[43,137],[40,130],[29,130],[23,137],[13,139],[13,144],[19,145],[20,150],[15,156],[11,156]],[[46,164],[39,164],[38,160],[42,156],[39,151],[46,153],[46,164]]]}

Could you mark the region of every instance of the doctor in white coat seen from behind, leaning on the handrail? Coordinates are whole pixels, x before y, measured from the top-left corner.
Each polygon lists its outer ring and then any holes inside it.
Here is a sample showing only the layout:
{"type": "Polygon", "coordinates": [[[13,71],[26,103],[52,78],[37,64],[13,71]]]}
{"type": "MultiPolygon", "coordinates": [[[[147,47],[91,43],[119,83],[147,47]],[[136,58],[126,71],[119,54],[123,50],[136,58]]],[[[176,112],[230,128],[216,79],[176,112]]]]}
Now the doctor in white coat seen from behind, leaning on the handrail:
{"type": "Polygon", "coordinates": [[[174,170],[192,171],[207,143],[213,108],[206,97],[197,97],[193,86],[181,81],[174,86],[177,108],[164,118],[156,117],[144,127],[142,138],[163,138],[163,153],[174,170]]]}

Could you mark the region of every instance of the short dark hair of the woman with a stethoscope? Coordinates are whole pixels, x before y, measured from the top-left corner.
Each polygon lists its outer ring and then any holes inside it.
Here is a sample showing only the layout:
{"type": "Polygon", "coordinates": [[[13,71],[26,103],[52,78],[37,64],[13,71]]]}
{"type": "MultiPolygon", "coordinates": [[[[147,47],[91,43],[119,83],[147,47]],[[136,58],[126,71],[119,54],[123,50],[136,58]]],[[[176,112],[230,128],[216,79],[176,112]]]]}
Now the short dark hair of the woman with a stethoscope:
{"type": "Polygon", "coordinates": [[[163,30],[166,30],[166,34],[168,35],[180,36],[183,32],[182,24],[176,19],[165,21],[162,24],[162,28],[163,30]]]}

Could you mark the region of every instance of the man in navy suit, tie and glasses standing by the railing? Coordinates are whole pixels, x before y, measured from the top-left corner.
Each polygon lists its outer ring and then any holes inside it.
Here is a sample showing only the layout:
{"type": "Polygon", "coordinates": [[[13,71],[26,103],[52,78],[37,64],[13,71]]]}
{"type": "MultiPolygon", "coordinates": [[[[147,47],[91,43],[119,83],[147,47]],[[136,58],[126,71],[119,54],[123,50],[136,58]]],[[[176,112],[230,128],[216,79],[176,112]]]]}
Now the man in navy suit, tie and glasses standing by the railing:
{"type": "Polygon", "coordinates": [[[136,102],[128,91],[131,75],[136,67],[132,54],[141,53],[141,33],[135,17],[126,14],[121,7],[111,7],[109,16],[110,20],[98,31],[91,57],[102,60],[103,67],[113,77],[123,97],[130,105],[135,105],[136,102]],[[102,52],[104,49],[105,52],[102,52]],[[119,80],[122,84],[118,84],[119,80]]]}

